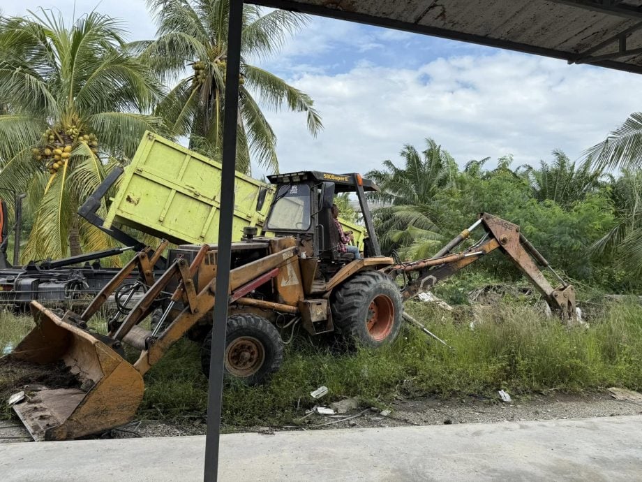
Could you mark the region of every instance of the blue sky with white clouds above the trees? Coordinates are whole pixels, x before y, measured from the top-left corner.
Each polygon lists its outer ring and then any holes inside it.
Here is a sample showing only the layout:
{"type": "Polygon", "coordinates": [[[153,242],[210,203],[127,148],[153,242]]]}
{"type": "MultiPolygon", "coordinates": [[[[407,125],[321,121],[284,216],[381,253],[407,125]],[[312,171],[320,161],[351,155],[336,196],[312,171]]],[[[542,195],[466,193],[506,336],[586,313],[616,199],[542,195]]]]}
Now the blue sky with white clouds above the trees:
{"type": "MultiPolygon", "coordinates": [[[[5,15],[38,6],[73,13],[73,0],[3,0],[5,15]]],[[[77,13],[96,1],[75,1],[77,13]]],[[[154,36],[144,0],[103,0],[133,40],[154,36]]],[[[311,17],[281,54],[260,65],[310,94],[324,130],[305,116],[267,112],[283,172],[366,172],[398,160],[405,144],[434,138],[460,164],[512,154],[515,165],[550,160],[553,149],[581,159],[630,112],[642,110],[642,76],[440,38],[311,17]]],[[[255,175],[262,170],[255,168],[255,175]]]]}

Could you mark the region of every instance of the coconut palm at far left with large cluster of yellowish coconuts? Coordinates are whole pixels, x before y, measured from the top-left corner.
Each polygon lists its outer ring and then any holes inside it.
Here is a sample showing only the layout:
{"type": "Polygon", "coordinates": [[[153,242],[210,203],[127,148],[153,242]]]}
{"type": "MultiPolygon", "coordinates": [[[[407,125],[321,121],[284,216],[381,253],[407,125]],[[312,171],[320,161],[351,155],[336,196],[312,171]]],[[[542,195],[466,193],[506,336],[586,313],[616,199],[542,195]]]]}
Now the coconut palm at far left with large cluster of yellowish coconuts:
{"type": "Polygon", "coordinates": [[[90,13],[67,26],[40,10],[0,20],[0,189],[27,192],[26,258],[101,249],[110,240],[76,211],[114,161],[159,119],[160,89],[124,50],[121,24],[90,13]]]}

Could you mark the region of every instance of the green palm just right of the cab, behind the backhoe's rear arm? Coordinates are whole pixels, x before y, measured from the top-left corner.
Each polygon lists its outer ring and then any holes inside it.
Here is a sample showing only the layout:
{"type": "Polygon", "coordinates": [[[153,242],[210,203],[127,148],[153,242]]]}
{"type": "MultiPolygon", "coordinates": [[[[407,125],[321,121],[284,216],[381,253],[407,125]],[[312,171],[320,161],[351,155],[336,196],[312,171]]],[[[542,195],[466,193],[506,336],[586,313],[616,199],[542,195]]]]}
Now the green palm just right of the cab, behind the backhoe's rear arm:
{"type": "Polygon", "coordinates": [[[383,162],[383,170],[371,170],[366,176],[381,188],[371,193],[375,208],[378,237],[382,251],[401,249],[405,258],[428,256],[441,240],[433,219],[437,214],[433,198],[440,189],[454,185],[458,173],[452,156],[432,139],[426,139],[421,154],[405,145],[401,150],[403,167],[383,162]]]}

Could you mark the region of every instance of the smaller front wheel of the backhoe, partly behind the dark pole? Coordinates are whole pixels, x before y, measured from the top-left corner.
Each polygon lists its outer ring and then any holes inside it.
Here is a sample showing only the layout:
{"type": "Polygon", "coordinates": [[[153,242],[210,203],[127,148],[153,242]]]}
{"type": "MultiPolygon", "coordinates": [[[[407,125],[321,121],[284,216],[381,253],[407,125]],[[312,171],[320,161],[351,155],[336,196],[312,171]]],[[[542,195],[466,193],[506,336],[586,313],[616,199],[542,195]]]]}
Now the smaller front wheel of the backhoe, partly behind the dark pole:
{"type": "MultiPolygon", "coordinates": [[[[203,373],[209,377],[210,331],[201,349],[203,373]]],[[[283,340],[267,319],[255,314],[234,314],[227,319],[224,355],[225,374],[258,385],[281,367],[283,340]]]]}

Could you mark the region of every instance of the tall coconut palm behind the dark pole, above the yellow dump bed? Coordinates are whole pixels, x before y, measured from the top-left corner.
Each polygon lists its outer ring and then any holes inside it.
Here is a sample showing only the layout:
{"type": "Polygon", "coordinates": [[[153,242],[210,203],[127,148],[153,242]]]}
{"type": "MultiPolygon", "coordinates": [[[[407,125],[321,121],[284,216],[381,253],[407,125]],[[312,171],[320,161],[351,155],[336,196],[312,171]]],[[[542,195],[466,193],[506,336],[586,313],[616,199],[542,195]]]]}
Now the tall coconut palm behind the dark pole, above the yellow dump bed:
{"type": "MultiPolygon", "coordinates": [[[[173,136],[218,158],[223,147],[223,105],[230,0],[147,0],[158,24],[156,41],[132,45],[175,87],[158,105],[173,136]]],[[[239,82],[237,170],[250,173],[251,160],[278,172],[276,135],[261,106],[306,112],[308,130],[322,129],[313,100],[263,68],[250,64],[276,54],[306,22],[299,13],[244,6],[239,82]]]]}

